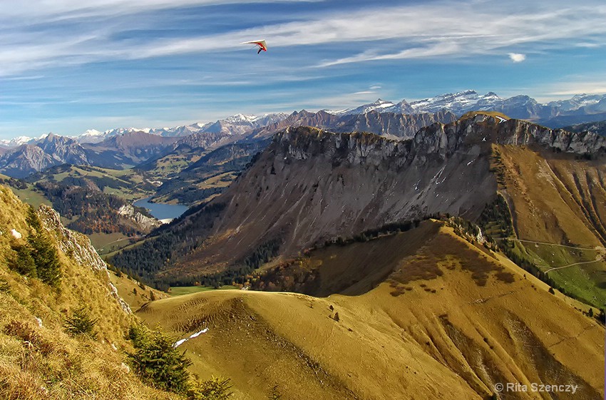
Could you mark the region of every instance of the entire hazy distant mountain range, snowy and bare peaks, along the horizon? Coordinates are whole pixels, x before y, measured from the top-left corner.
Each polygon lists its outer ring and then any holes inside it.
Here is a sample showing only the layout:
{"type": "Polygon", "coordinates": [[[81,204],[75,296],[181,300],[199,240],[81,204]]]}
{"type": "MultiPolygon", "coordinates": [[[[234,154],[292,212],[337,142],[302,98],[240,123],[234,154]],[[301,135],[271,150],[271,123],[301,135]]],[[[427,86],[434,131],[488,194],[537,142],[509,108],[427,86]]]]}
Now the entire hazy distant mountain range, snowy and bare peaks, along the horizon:
{"type": "Polygon", "coordinates": [[[529,96],[501,98],[493,92],[446,93],[419,101],[374,103],[341,111],[295,111],[245,116],[237,114],[213,123],[174,128],[116,128],[101,133],[87,130],[76,138],[49,133],[40,138],[20,136],[0,140],[0,172],[14,178],[53,165],[70,163],[103,168],[127,168],[180,153],[212,150],[235,142],[264,140],[287,126],[309,125],[333,132],[365,131],[388,138],[411,138],[424,126],[451,123],[469,111],[498,111],[550,128],[606,119],[606,95],[577,95],[541,104],[529,96]]]}

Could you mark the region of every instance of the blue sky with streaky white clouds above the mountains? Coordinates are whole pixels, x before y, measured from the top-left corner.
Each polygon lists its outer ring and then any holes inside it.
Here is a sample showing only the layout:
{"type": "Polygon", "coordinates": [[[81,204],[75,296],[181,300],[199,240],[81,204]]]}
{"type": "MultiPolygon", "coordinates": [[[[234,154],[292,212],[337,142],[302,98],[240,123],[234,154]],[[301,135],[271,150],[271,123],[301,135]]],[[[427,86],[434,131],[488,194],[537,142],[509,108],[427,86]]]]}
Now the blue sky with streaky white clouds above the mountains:
{"type": "Polygon", "coordinates": [[[603,0],[24,3],[0,0],[0,138],[468,88],[606,93],[603,0]]]}

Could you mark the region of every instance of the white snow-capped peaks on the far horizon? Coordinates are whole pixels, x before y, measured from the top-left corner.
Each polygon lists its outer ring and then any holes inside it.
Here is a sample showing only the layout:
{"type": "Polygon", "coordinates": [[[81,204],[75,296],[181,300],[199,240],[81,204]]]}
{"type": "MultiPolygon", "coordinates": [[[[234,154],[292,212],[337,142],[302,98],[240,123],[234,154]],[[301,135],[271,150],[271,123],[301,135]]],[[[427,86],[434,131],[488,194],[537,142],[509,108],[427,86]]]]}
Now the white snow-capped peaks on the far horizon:
{"type": "MultiPolygon", "coordinates": [[[[402,100],[399,103],[385,101],[381,98],[374,103],[364,104],[356,108],[347,108],[340,111],[323,110],[324,113],[335,116],[348,116],[377,111],[379,113],[399,114],[421,114],[451,111],[457,116],[462,116],[468,111],[499,111],[511,118],[528,119],[533,122],[548,126],[549,128],[560,128],[582,122],[593,122],[606,119],[606,94],[587,95],[579,94],[568,100],[551,101],[549,103],[538,103],[530,96],[520,95],[510,98],[502,98],[496,93],[488,92],[484,95],[473,91],[461,91],[458,93],[445,93],[440,96],[423,98],[418,101],[402,100]],[[590,116],[595,116],[592,118],[590,116]]],[[[73,137],[78,143],[100,143],[107,138],[123,135],[131,132],[145,132],[163,137],[183,137],[193,133],[225,133],[242,135],[250,130],[262,128],[267,125],[278,123],[289,117],[286,113],[269,113],[263,116],[245,116],[237,114],[228,118],[211,123],[192,123],[191,125],[180,125],[173,128],[115,128],[100,132],[95,129],[73,137]]],[[[35,144],[43,140],[46,135],[38,138],[19,136],[13,139],[0,140],[0,146],[16,147],[24,144],[35,144]]]]}

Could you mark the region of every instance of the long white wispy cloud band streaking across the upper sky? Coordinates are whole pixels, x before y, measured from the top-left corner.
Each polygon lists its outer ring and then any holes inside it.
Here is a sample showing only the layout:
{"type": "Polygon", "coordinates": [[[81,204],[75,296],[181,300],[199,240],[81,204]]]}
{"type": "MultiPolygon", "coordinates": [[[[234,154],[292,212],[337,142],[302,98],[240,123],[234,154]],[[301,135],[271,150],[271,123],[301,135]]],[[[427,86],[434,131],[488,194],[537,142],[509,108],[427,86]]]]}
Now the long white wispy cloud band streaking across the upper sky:
{"type": "MultiPolygon", "coordinates": [[[[287,1],[287,0],[284,0],[287,1]]],[[[294,1],[294,0],[293,0],[294,1]]],[[[234,1],[235,2],[235,1],[234,1]]],[[[238,1],[247,3],[250,1],[238,1]]],[[[141,9],[220,4],[222,1],[195,0],[112,0],[43,1],[39,6],[17,6],[10,14],[26,11],[72,16],[135,13],[141,9]],[[86,4],[86,6],[83,6],[86,4]],[[71,10],[71,11],[68,11],[71,10]]],[[[406,58],[466,57],[478,54],[509,54],[517,46],[540,51],[544,46],[604,46],[606,44],[606,4],[590,0],[569,6],[563,0],[526,4],[525,9],[509,1],[441,1],[431,4],[333,11],[323,16],[302,14],[301,20],[284,24],[251,26],[222,34],[190,35],[171,39],[144,38],[116,41],[122,24],[93,25],[69,35],[53,36],[45,31],[0,32],[0,75],[57,65],[78,65],[108,59],[146,59],[189,53],[235,51],[251,37],[267,39],[272,48],[319,46],[329,43],[359,43],[360,51],[326,59],[318,66],[406,58]],[[355,21],[355,23],[352,23],[355,21]],[[580,24],[582,21],[582,24],[580,24]],[[557,29],[554,27],[557,26],[557,29]],[[600,39],[601,38],[601,39],[600,39]]],[[[518,4],[519,6],[519,4],[518,4]]],[[[1,17],[0,21],[9,18],[1,17]]],[[[28,20],[29,21],[29,20],[28,20]]],[[[135,21],[137,25],[143,21],[135,21]]],[[[26,22],[24,21],[24,24],[26,22]]]]}

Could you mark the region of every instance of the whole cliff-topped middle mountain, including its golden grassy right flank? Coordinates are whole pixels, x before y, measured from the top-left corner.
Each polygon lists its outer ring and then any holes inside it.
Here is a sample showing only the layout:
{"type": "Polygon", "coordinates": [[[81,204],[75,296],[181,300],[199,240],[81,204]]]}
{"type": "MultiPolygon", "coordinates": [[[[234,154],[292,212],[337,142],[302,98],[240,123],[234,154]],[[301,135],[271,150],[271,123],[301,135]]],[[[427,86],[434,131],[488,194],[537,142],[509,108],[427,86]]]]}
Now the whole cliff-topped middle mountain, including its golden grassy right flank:
{"type": "MultiPolygon", "coordinates": [[[[433,123],[406,140],[284,128],[222,195],[193,207],[188,216],[113,262],[135,268],[149,280],[233,274],[258,260],[294,257],[337,237],[429,215],[477,222],[500,193],[509,193],[515,232],[527,232],[523,239],[557,244],[576,240],[577,245],[595,247],[606,239],[606,210],[598,200],[603,198],[599,176],[606,171],[596,161],[605,152],[602,136],[551,130],[496,113],[433,123]],[[554,172],[528,170],[520,177],[525,167],[516,165],[524,160],[554,172]],[[533,183],[537,174],[546,174],[548,187],[533,183]],[[551,199],[565,200],[558,203],[553,226],[541,230],[541,219],[533,215],[556,207],[551,200],[550,206],[538,206],[545,202],[543,194],[551,192],[551,199]],[[516,216],[521,210],[527,215],[516,216]],[[526,225],[530,222],[538,227],[526,225]]],[[[545,261],[550,264],[552,260],[545,261]]],[[[595,292],[604,280],[598,270],[590,274],[595,292]]],[[[580,286],[573,286],[568,289],[587,297],[580,286]]]]}

